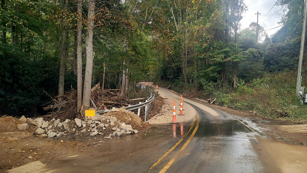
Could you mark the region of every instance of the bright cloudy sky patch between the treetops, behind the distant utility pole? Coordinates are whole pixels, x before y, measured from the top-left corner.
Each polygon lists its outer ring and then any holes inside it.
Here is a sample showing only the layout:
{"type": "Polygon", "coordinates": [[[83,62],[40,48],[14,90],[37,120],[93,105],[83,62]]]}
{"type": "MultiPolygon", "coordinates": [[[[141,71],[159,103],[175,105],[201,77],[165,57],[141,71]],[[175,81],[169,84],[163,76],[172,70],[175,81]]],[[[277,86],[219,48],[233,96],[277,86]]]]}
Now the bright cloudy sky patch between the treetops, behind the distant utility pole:
{"type": "Polygon", "coordinates": [[[269,36],[276,33],[282,26],[275,29],[272,28],[281,25],[278,24],[278,22],[280,21],[283,11],[281,6],[274,6],[275,2],[276,0],[244,0],[245,5],[247,6],[247,10],[243,14],[243,18],[240,22],[240,29],[242,30],[247,28],[251,22],[257,22],[257,14],[255,13],[258,11],[261,13],[258,17],[258,24],[262,26],[264,30],[267,30],[266,32],[269,36]],[[271,8],[272,10],[270,10],[271,8]]]}

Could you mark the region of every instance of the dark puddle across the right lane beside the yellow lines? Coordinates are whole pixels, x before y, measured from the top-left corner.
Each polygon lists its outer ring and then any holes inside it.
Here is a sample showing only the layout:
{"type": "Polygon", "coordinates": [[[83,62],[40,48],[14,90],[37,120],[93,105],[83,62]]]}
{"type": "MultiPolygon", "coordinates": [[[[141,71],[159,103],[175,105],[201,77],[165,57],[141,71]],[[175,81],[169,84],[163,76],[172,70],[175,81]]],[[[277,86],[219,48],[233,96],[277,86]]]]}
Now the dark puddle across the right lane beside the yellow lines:
{"type": "Polygon", "coordinates": [[[235,136],[247,137],[252,133],[250,129],[237,120],[226,120],[220,122],[203,121],[200,122],[195,137],[204,136],[235,136]]]}

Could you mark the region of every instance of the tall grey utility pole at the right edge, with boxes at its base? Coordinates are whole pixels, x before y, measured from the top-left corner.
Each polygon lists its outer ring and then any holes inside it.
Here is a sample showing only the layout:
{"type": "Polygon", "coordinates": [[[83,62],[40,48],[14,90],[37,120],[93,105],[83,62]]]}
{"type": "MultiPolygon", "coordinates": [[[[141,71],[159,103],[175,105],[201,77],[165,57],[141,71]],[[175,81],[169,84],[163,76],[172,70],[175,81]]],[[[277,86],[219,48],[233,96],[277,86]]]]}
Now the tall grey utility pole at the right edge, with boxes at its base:
{"type": "Polygon", "coordinates": [[[301,74],[302,74],[302,63],[303,63],[303,55],[304,55],[305,30],[306,30],[306,19],[307,19],[306,18],[306,9],[307,9],[307,2],[305,1],[303,30],[302,30],[302,38],[301,38],[301,49],[300,49],[300,58],[298,60],[296,92],[295,92],[297,99],[300,99],[300,91],[301,91],[301,80],[302,80],[301,74]]]}

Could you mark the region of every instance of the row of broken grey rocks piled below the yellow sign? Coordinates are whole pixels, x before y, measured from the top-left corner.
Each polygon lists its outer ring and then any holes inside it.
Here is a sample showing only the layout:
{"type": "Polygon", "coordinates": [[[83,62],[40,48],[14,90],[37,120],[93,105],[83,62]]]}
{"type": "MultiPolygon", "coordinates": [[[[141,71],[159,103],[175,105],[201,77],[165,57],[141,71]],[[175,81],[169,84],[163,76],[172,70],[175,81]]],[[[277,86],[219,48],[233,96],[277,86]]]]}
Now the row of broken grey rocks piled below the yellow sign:
{"type": "MultiPolygon", "coordinates": [[[[116,111],[116,110],[115,110],[116,111]]],[[[102,135],[105,139],[112,137],[122,137],[138,133],[132,129],[132,126],[121,122],[113,116],[101,116],[96,114],[85,121],[81,119],[69,120],[61,122],[60,119],[52,119],[50,122],[43,118],[30,119],[22,116],[19,120],[22,124],[17,124],[17,128],[21,131],[29,131],[39,137],[59,138],[61,136],[96,136],[102,135]]]]}

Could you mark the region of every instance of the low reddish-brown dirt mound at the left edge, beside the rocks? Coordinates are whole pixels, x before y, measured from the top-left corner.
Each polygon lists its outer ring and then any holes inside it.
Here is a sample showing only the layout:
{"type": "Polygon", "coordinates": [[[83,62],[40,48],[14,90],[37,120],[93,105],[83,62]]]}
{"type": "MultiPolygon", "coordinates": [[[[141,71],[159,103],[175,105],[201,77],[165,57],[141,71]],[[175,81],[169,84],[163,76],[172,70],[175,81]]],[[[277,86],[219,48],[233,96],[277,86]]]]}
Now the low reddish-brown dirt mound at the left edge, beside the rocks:
{"type": "Polygon", "coordinates": [[[6,131],[19,131],[17,129],[17,124],[25,123],[19,119],[16,119],[12,116],[8,117],[2,117],[0,118],[0,132],[6,132],[6,131]]]}

